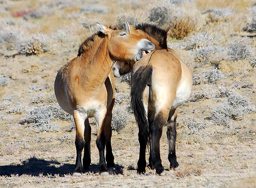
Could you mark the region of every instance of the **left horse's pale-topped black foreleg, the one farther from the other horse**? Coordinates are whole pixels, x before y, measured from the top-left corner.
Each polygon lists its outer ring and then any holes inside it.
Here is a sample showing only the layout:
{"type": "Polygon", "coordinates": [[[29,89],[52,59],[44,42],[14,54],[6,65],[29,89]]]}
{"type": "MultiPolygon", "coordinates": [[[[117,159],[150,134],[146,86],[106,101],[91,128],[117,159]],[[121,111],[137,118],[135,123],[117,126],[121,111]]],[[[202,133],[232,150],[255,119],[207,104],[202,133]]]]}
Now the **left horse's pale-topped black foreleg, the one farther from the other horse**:
{"type": "Polygon", "coordinates": [[[84,131],[85,131],[85,117],[83,117],[78,110],[74,110],[74,120],[75,120],[75,147],[76,147],[76,161],[75,170],[73,176],[82,175],[82,150],[85,146],[84,131]]]}

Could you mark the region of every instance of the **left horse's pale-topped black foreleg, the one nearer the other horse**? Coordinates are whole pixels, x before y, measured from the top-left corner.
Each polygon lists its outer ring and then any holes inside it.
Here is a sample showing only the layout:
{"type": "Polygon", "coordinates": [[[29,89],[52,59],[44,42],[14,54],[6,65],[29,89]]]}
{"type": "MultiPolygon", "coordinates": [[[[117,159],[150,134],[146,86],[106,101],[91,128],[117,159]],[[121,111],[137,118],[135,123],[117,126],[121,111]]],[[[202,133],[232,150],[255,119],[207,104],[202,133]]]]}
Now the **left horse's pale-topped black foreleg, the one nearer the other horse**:
{"type": "Polygon", "coordinates": [[[107,175],[107,165],[105,161],[104,151],[105,151],[105,144],[106,144],[106,138],[105,138],[105,124],[106,124],[106,110],[101,110],[101,112],[96,115],[96,122],[97,122],[97,139],[96,139],[96,145],[99,149],[99,173],[100,175],[107,175]]]}

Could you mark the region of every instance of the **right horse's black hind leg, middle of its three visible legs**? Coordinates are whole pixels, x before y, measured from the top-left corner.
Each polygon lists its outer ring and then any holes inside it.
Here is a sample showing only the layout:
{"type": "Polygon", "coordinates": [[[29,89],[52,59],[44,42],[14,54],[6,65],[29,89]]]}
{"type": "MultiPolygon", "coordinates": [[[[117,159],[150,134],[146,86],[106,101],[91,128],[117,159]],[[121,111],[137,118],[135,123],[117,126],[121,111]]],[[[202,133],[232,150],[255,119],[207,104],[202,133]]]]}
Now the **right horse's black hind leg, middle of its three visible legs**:
{"type": "Polygon", "coordinates": [[[156,169],[156,174],[165,175],[165,170],[162,166],[162,160],[160,157],[160,138],[162,136],[162,129],[167,121],[168,114],[165,115],[164,112],[159,112],[156,114],[155,119],[151,125],[151,139],[152,139],[152,150],[151,156],[153,165],[156,169]]]}

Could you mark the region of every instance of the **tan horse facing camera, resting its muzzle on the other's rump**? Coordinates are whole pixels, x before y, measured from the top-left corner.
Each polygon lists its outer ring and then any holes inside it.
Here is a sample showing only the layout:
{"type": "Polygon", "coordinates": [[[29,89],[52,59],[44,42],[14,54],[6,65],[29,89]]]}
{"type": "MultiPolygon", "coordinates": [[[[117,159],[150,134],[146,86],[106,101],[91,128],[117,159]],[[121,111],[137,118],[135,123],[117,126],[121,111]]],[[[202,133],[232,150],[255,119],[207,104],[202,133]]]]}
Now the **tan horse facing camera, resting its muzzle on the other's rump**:
{"type": "Polygon", "coordinates": [[[99,171],[108,174],[114,167],[111,148],[111,119],[114,105],[113,61],[136,61],[142,50],[153,50],[149,40],[120,30],[100,25],[99,32],[86,39],[80,46],[78,57],[61,67],[55,83],[56,99],[63,110],[73,115],[76,128],[76,162],[73,176],[81,176],[82,168],[91,163],[91,127],[89,117],[97,122],[96,145],[99,149],[99,171]],[[106,144],[106,161],[104,149],[106,144]],[[82,161],[82,150],[84,158],[82,161]]]}

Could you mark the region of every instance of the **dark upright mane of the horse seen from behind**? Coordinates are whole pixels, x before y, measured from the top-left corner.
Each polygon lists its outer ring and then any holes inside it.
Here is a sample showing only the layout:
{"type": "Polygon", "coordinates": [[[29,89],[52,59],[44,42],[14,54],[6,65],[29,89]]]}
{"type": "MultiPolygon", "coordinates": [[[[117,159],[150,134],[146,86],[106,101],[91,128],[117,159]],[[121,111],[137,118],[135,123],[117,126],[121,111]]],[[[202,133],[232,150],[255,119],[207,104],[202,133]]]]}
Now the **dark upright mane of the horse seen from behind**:
{"type": "Polygon", "coordinates": [[[153,37],[157,41],[159,41],[160,47],[167,49],[167,32],[168,30],[163,30],[160,27],[157,27],[153,24],[148,23],[142,23],[139,25],[136,25],[134,27],[136,30],[142,30],[146,34],[148,34],[150,37],[153,37]]]}

